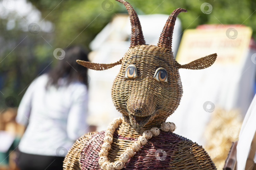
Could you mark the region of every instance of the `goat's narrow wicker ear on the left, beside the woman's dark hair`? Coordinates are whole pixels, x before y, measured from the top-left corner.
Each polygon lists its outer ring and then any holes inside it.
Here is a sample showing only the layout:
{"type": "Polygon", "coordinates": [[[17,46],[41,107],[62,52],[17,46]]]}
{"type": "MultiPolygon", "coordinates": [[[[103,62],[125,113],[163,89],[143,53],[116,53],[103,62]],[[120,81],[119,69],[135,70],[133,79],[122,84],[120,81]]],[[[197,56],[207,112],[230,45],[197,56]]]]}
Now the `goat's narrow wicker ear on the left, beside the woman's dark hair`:
{"type": "Polygon", "coordinates": [[[119,65],[122,63],[122,59],[120,59],[119,61],[115,62],[115,63],[111,63],[111,64],[98,64],[98,63],[91,63],[89,61],[82,61],[77,59],[76,62],[88,69],[92,69],[92,70],[107,70],[115,65],[119,65]]]}

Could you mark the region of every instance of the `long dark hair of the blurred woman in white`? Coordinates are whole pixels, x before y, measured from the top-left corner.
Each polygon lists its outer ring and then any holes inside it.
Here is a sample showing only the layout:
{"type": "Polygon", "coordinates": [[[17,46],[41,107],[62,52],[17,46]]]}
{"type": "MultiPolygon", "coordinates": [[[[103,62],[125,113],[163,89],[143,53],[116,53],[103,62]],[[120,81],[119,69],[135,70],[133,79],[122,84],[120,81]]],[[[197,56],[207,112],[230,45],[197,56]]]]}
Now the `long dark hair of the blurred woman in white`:
{"type": "Polygon", "coordinates": [[[66,85],[69,85],[70,82],[80,81],[88,87],[87,68],[76,63],[77,59],[89,61],[87,51],[80,46],[69,47],[64,51],[64,59],[58,60],[58,64],[48,73],[49,80],[46,88],[51,85],[58,88],[59,78],[64,77],[67,79],[66,85]]]}

